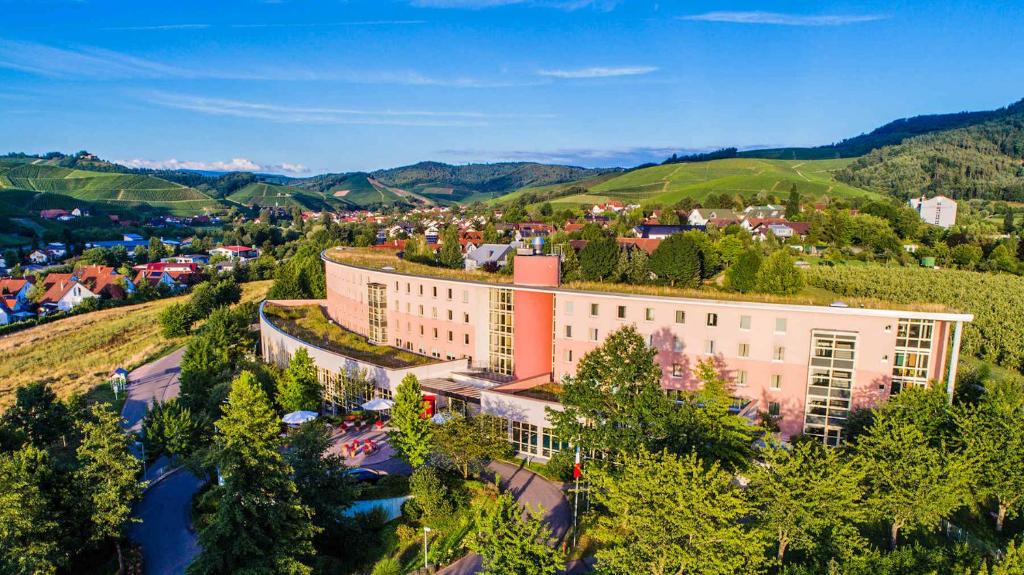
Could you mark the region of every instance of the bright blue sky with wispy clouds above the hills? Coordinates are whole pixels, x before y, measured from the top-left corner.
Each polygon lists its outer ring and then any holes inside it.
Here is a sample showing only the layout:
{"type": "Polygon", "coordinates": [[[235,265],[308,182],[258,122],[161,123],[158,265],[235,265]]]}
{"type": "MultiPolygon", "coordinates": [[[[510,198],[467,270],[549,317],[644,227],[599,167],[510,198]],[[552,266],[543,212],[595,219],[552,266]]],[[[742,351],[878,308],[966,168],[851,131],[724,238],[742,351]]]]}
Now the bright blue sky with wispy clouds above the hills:
{"type": "Polygon", "coordinates": [[[1024,97],[1024,6],[0,0],[0,148],[303,174],[635,165],[1024,97]]]}

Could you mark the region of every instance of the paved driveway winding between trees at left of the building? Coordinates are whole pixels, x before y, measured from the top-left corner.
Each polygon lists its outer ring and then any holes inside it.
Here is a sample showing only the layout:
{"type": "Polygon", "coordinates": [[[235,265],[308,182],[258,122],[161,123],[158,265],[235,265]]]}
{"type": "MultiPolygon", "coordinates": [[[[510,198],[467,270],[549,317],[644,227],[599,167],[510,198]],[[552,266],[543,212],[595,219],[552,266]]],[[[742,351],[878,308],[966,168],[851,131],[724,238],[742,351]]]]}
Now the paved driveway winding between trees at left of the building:
{"type": "MultiPolygon", "coordinates": [[[[148,406],[178,396],[178,373],[184,348],[136,368],[128,375],[128,398],[121,416],[128,431],[138,431],[148,406]]],[[[153,462],[145,478],[153,480],[166,468],[166,457],[153,462]]],[[[203,482],[181,470],[153,484],[135,506],[134,516],[142,523],[132,525],[129,536],[142,547],[147,575],[177,575],[199,552],[190,530],[188,508],[203,482]]]]}

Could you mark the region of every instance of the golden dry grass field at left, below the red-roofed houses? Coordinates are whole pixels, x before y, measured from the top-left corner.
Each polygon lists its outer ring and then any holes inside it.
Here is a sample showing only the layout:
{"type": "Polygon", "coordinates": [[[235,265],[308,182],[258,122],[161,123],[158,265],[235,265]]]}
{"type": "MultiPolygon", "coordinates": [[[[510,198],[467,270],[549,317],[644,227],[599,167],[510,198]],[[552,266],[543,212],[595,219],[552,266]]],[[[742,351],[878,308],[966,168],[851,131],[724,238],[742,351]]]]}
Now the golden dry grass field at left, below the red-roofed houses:
{"type": "MultiPolygon", "coordinates": [[[[270,281],[243,284],[243,301],[259,301],[270,281]]],[[[160,311],[187,296],[76,315],[0,338],[0,410],[14,390],[45,381],[60,397],[87,393],[117,367],[134,368],[184,343],[160,335],[160,311]]]]}

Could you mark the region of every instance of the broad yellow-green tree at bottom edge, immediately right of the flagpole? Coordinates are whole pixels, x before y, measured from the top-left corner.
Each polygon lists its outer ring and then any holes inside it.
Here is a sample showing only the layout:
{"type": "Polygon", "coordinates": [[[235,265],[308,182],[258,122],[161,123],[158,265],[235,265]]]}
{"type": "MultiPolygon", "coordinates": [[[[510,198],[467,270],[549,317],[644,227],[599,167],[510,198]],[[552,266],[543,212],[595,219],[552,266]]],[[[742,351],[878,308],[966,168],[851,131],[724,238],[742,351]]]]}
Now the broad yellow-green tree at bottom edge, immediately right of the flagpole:
{"type": "Polygon", "coordinates": [[[601,574],[763,573],[766,537],[754,508],[717,463],[640,451],[617,469],[590,472],[601,574]]]}

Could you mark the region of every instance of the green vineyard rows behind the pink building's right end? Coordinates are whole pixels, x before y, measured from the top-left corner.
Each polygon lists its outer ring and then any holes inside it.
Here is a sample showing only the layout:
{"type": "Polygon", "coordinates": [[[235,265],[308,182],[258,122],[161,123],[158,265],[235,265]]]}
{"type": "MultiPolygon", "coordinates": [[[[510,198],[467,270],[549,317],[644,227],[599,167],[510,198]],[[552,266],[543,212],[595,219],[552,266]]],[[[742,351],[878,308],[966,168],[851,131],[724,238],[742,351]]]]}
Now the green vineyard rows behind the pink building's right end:
{"type": "Polygon", "coordinates": [[[843,296],[896,303],[932,302],[973,313],[964,352],[1024,370],[1024,278],[973,271],[884,266],[812,267],[808,283],[843,296]]]}

